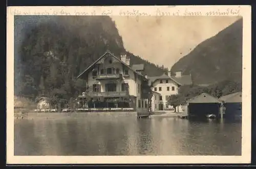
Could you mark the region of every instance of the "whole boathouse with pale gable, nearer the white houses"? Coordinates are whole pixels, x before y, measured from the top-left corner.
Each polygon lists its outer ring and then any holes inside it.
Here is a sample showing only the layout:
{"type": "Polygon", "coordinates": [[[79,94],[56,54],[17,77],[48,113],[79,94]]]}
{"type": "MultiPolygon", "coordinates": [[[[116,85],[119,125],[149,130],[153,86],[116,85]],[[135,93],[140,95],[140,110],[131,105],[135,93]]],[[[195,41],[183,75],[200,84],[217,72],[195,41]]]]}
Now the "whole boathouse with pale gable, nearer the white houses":
{"type": "Polygon", "coordinates": [[[202,93],[182,103],[183,114],[187,116],[219,115],[221,101],[214,96],[202,93]]]}

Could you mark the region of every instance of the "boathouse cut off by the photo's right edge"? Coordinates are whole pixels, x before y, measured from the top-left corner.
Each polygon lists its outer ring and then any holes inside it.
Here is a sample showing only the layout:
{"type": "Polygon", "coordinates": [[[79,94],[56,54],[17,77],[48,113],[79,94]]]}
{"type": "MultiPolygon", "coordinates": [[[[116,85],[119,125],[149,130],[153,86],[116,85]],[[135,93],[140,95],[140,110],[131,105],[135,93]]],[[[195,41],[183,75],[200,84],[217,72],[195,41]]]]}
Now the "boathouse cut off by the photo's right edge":
{"type": "Polygon", "coordinates": [[[226,108],[225,118],[242,116],[242,92],[223,95],[220,100],[226,108]]]}

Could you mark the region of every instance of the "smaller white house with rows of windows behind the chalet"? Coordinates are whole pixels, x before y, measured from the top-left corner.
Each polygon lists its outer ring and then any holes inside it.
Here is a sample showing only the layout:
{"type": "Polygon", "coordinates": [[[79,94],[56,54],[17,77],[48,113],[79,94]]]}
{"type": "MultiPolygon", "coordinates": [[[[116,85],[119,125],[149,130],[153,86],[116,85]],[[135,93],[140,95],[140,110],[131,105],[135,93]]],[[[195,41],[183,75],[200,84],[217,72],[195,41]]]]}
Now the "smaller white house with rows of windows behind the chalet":
{"type": "Polygon", "coordinates": [[[157,77],[148,77],[151,90],[155,93],[152,96],[152,111],[166,110],[172,108],[168,105],[168,96],[178,94],[179,87],[182,85],[191,85],[190,75],[182,75],[182,71],[176,71],[172,76],[171,72],[157,77]],[[156,94],[158,93],[158,94],[156,94]]]}

